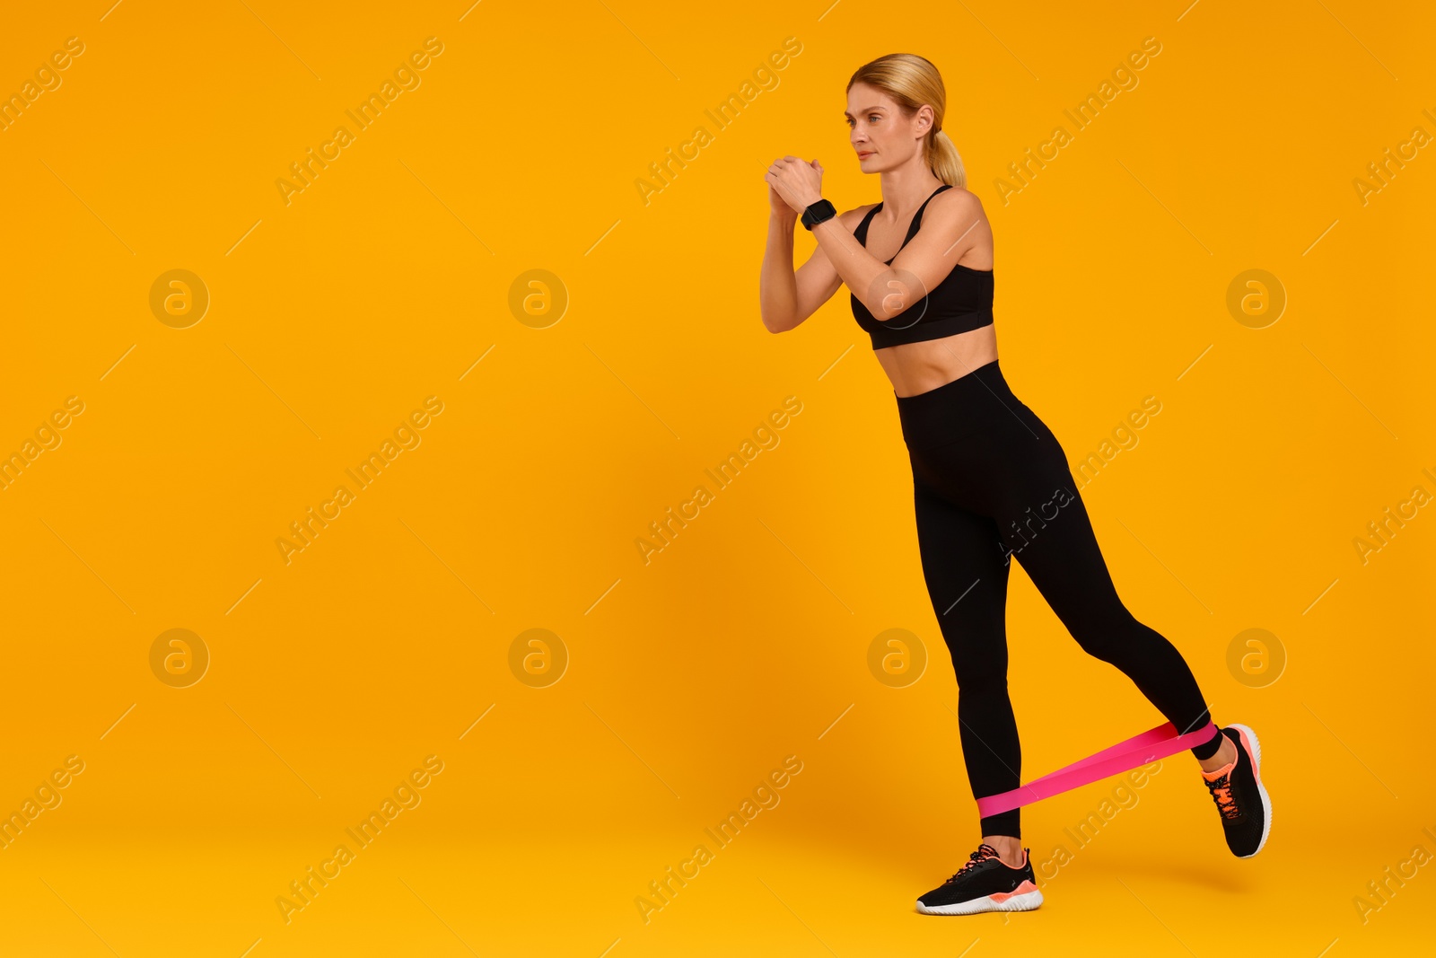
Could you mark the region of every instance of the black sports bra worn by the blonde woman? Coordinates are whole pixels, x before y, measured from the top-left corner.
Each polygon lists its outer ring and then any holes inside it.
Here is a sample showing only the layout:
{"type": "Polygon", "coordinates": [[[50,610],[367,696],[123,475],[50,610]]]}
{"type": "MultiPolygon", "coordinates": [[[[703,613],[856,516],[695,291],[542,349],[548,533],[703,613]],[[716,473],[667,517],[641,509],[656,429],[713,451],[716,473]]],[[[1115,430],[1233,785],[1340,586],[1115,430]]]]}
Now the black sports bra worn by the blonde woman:
{"type": "MultiPolygon", "coordinates": [[[[949,184],[942,184],[933,190],[932,197],[951,188],[949,184]]],[[[902,247],[918,236],[918,228],[922,225],[922,211],[932,203],[932,197],[923,200],[922,205],[918,207],[918,213],[912,217],[912,225],[908,227],[908,237],[898,247],[898,253],[902,253],[902,247]]],[[[873,214],[882,208],[883,204],[879,203],[869,210],[863,221],[853,230],[853,237],[863,244],[863,248],[867,248],[867,224],[872,223],[873,214]]],[[[898,259],[898,253],[893,253],[893,260],[898,259]]],[[[887,263],[893,260],[887,260],[887,263]]],[[[873,349],[920,343],[992,325],[992,270],[954,266],[952,271],[942,277],[942,282],[932,292],[886,322],[867,312],[857,296],[850,293],[849,299],[853,300],[853,317],[857,319],[859,326],[867,330],[873,340],[873,349]]]]}

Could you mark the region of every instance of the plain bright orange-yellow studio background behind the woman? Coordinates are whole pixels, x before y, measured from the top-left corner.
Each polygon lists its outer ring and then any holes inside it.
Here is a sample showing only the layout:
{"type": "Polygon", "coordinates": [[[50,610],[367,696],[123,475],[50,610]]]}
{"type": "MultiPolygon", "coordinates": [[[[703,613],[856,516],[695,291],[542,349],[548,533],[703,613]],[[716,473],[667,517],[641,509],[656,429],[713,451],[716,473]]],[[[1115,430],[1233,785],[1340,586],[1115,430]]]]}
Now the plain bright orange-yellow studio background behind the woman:
{"type": "MultiPolygon", "coordinates": [[[[0,451],[59,438],[0,491],[0,806],[83,763],[0,849],[7,954],[1338,958],[1429,936],[1430,868],[1364,921],[1354,899],[1436,853],[1436,518],[1364,563],[1353,544],[1436,493],[1436,158],[1364,203],[1353,182],[1436,134],[1429,10],[106,1],[0,33],[4,93],[83,43],[0,131],[0,451]],[[290,164],[426,37],[419,85],[286,203],[290,164]],[[718,129],[705,111],[787,37],[718,129]],[[1137,85],[1073,131],[1146,37],[1137,85]],[[1038,912],[913,912],[978,834],[892,389],[846,290],[783,336],[757,309],[767,164],[820,159],[840,210],[880,198],[843,88],[898,50],[943,73],[1017,395],[1074,465],[1162,404],[1083,496],[1129,608],[1261,735],[1256,859],[1178,755],[1024,811],[1034,860],[1071,853],[1038,912]],[[997,178],[1057,125],[1071,142],[1004,204],[997,178]],[[210,296],[182,329],[151,309],[175,269],[210,296]],[[1251,269],[1288,297],[1262,329],[1226,307],[1251,269]],[[557,320],[511,307],[528,270],[566,293],[557,320]],[[777,445],[645,563],[649,523],[788,396],[777,445]],[[411,448],[286,563],[290,523],[391,438],[411,448]],[[151,668],[169,629],[208,651],[187,688],[151,668]],[[557,642],[516,661],[567,656],[543,688],[510,665],[528,629],[557,642]],[[887,629],[928,655],[902,688],[869,669],[887,629]],[[1275,681],[1228,666],[1246,629],[1275,636],[1275,681]],[[286,922],[290,882],[431,755],[399,793],[418,804],[286,922]],[[645,922],[649,882],[790,755],[777,804],[645,922]]],[[[1160,721],[1020,570],[1010,633],[1024,777],[1160,721]]]]}

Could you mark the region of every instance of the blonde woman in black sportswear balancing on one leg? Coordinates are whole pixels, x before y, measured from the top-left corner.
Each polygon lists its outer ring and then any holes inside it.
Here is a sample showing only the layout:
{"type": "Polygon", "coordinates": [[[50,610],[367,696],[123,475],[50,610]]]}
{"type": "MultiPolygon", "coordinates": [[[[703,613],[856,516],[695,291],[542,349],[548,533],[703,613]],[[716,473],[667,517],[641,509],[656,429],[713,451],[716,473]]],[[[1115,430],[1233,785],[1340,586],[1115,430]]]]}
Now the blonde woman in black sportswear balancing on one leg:
{"type": "MultiPolygon", "coordinates": [[[[1117,597],[1061,445],[1002,376],[992,230],[942,132],[945,103],[936,68],[910,53],[879,57],[849,80],[849,141],[862,171],[880,174],[879,204],[837,215],[821,198],[817,161],[784,157],[770,167],[761,309],[764,326],[784,332],[846,283],[853,316],[893,383],[923,577],[956,672],[972,796],[982,797],[1020,784],[1004,623],[1012,556],[1081,648],[1132,678],[1179,733],[1211,717],[1180,652],[1117,597]],[[817,248],[794,273],[800,214],[817,248]]],[[[1271,827],[1256,735],[1245,725],[1218,728],[1192,754],[1228,847],[1251,857],[1271,827]]],[[[918,899],[918,911],[1041,905],[1018,813],[982,817],[978,849],[918,899]]]]}

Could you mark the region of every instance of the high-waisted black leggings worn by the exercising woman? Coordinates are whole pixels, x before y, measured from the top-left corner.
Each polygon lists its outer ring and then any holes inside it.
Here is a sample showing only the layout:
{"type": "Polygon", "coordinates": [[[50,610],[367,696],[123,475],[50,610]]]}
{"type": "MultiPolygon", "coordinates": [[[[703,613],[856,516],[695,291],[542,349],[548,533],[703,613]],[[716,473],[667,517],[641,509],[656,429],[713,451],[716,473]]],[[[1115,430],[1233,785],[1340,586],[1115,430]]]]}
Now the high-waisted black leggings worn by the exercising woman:
{"type": "MultiPolygon", "coordinates": [[[[1021,784],[1007,694],[1012,556],[1083,651],[1122,669],[1179,733],[1211,721],[1182,654],[1117,597],[1057,437],[1012,395],[997,361],[896,399],[922,572],[958,678],[972,797],[1021,784]]],[[[1221,743],[1213,735],[1192,754],[1209,758],[1221,743]]],[[[984,817],[982,834],[1021,837],[1020,811],[984,817]]]]}

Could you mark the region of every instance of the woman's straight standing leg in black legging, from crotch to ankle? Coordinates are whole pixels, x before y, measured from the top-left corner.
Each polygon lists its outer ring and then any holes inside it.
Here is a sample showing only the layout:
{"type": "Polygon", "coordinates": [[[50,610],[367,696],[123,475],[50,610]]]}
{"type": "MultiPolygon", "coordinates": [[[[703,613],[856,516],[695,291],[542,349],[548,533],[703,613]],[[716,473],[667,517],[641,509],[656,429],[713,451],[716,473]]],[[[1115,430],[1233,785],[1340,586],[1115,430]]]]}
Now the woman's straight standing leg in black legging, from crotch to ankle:
{"type": "MultiPolygon", "coordinates": [[[[962,758],[972,797],[1017,789],[1022,748],[1007,694],[1010,563],[991,517],[913,483],[922,572],[958,678],[962,758]]],[[[1021,809],[981,820],[984,836],[1021,837],[1021,809]]],[[[1015,847],[1014,842],[1014,847],[1015,847]]],[[[1014,852],[1014,855],[1020,855],[1014,852]]]]}

